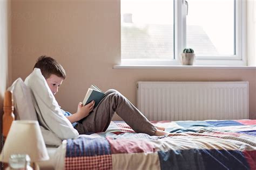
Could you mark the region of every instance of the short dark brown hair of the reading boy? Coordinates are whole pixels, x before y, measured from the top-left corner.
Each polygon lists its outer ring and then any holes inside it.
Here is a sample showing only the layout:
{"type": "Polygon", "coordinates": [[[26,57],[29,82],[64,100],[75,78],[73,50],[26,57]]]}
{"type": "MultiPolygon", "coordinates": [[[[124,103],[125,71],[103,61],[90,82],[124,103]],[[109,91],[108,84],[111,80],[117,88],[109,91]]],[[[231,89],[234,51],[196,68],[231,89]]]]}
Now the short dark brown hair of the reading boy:
{"type": "Polygon", "coordinates": [[[48,79],[51,74],[55,74],[58,77],[66,78],[66,72],[62,65],[60,65],[55,59],[50,56],[42,55],[39,56],[34,68],[40,68],[41,73],[45,79],[48,79]]]}

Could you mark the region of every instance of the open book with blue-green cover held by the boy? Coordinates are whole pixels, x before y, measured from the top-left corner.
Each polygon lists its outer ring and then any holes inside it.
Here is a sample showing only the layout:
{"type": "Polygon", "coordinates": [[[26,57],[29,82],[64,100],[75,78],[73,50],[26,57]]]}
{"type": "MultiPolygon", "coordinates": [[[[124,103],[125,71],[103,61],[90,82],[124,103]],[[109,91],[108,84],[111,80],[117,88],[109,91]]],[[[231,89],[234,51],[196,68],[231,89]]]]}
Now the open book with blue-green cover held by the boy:
{"type": "Polygon", "coordinates": [[[83,105],[86,105],[86,104],[90,103],[91,101],[95,101],[95,105],[94,105],[94,108],[95,108],[95,107],[97,107],[99,102],[103,99],[104,95],[105,95],[105,93],[93,84],[87,90],[87,93],[83,100],[83,105]]]}

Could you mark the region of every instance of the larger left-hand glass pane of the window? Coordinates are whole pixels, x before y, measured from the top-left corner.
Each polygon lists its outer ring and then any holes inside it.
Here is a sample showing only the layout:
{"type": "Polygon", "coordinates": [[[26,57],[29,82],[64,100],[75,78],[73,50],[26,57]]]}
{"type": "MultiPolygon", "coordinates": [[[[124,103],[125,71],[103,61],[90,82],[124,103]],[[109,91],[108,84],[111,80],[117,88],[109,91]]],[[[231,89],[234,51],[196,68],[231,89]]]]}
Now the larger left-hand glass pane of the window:
{"type": "Polygon", "coordinates": [[[121,0],[122,59],[173,59],[173,0],[121,0]]]}

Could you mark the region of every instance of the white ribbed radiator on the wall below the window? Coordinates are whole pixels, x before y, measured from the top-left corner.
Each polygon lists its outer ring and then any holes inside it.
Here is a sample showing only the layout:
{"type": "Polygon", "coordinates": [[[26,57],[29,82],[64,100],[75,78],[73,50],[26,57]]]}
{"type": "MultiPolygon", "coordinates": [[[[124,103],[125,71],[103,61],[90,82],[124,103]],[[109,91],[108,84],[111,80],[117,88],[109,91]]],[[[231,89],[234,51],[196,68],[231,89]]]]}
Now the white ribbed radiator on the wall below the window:
{"type": "Polygon", "coordinates": [[[248,119],[248,82],[138,82],[137,107],[150,121],[248,119]]]}

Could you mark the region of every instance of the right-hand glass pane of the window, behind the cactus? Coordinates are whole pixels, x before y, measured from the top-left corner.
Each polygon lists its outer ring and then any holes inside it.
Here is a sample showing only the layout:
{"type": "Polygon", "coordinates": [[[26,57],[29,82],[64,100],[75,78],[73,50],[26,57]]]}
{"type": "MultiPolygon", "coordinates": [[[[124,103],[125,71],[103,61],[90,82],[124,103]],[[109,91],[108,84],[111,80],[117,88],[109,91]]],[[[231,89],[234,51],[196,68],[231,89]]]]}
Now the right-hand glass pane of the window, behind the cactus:
{"type": "Polygon", "coordinates": [[[234,0],[187,2],[187,47],[197,55],[234,55],[234,0]]]}

